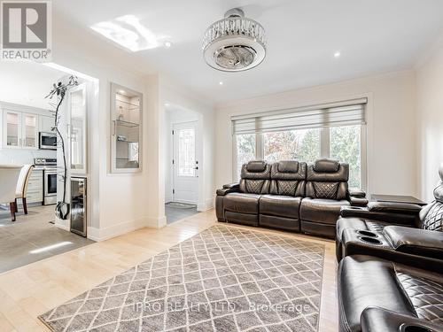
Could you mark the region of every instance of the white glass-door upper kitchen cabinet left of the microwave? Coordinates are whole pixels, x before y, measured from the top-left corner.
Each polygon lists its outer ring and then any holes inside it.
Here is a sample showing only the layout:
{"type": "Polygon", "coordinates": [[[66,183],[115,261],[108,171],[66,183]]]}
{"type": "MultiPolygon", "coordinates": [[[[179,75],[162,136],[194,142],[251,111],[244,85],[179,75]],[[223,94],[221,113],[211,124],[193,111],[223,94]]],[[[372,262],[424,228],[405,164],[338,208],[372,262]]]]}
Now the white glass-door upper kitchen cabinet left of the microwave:
{"type": "Polygon", "coordinates": [[[3,147],[11,149],[38,148],[38,115],[3,111],[3,147]]]}

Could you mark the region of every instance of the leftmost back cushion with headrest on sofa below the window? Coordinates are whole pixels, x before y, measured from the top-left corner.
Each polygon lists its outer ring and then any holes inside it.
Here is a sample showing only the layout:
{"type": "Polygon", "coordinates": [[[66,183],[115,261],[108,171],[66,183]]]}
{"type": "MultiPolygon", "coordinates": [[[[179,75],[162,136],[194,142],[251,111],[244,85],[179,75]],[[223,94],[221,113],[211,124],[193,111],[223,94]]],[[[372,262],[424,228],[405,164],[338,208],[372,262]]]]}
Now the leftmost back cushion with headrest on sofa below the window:
{"type": "Polygon", "coordinates": [[[265,161],[254,160],[242,166],[240,192],[268,194],[271,166],[265,161]]]}

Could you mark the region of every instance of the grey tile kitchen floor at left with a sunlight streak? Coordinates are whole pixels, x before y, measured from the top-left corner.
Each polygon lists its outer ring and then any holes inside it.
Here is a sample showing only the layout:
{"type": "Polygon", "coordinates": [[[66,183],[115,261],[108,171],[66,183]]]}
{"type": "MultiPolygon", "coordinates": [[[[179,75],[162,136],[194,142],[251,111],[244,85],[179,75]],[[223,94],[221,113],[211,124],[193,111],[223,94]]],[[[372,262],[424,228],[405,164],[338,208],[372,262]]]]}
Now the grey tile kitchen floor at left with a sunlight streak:
{"type": "Polygon", "coordinates": [[[51,224],[54,205],[27,210],[26,215],[19,208],[16,221],[9,209],[0,210],[0,273],[94,243],[51,224]]]}

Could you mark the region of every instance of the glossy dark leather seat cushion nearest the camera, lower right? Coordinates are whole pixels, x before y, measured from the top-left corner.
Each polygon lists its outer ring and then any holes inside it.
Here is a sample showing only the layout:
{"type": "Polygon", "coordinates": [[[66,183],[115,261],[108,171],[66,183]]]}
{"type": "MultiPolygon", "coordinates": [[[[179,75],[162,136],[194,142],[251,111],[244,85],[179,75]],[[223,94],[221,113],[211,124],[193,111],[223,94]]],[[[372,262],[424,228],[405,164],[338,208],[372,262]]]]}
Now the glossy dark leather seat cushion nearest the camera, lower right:
{"type": "MultiPolygon", "coordinates": [[[[410,295],[405,294],[405,285],[399,282],[398,269],[390,261],[369,256],[348,256],[340,262],[338,307],[342,331],[361,331],[361,313],[369,306],[417,317],[410,295]]],[[[423,295],[426,291],[417,293],[423,295]]]]}

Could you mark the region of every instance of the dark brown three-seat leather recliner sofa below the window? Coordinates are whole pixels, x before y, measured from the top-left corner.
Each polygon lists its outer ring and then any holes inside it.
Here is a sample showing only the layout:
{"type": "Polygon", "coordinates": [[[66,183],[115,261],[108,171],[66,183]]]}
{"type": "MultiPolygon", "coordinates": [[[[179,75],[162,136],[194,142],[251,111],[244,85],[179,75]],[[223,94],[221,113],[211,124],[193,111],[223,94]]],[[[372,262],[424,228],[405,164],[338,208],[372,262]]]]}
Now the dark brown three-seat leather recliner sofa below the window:
{"type": "Polygon", "coordinates": [[[368,203],[361,190],[348,190],[348,176],[349,166],[331,159],[251,161],[239,183],[217,190],[217,220],[333,238],[341,207],[368,203]]]}

